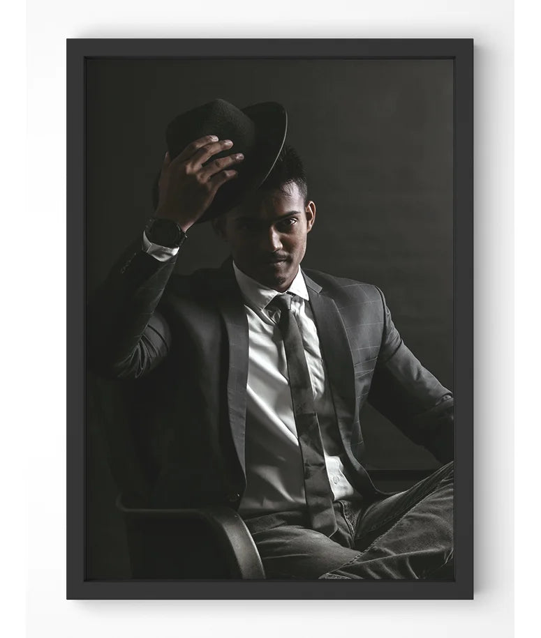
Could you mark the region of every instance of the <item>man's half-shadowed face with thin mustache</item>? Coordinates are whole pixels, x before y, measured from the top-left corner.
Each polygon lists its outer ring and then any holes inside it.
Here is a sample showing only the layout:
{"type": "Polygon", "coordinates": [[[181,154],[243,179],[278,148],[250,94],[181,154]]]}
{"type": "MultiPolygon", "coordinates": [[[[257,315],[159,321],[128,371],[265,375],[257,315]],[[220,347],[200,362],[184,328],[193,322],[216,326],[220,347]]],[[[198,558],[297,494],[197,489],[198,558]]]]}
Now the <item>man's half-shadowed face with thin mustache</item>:
{"type": "Polygon", "coordinates": [[[245,275],[283,292],[297,275],[315,217],[315,204],[305,206],[299,187],[291,183],[246,197],[215,220],[214,229],[230,244],[245,275]]]}

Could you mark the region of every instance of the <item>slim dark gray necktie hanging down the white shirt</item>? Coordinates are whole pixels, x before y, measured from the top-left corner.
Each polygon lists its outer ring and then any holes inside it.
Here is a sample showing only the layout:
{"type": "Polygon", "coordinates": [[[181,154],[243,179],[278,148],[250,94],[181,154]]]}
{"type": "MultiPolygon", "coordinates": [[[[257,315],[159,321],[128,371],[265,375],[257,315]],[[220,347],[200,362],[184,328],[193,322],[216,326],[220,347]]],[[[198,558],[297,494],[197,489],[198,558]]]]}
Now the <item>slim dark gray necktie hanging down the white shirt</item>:
{"type": "Polygon", "coordinates": [[[316,531],[331,536],[337,529],[332,489],[325,466],[304,345],[297,320],[291,312],[291,299],[290,294],[276,295],[267,308],[280,310],[278,327],[286,349],[293,413],[304,466],[304,493],[311,525],[316,531]]]}

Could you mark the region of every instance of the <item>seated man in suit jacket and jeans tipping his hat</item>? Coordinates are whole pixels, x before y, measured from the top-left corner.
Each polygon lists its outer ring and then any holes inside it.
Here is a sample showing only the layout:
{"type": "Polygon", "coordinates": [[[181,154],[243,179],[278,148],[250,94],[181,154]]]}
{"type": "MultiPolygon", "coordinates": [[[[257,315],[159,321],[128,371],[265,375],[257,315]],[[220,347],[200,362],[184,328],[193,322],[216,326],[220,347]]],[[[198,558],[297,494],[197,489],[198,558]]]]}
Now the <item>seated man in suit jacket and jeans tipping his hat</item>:
{"type": "Polygon", "coordinates": [[[452,559],[452,394],[378,288],[300,268],[316,205],[285,135],[273,103],[214,100],[170,124],[154,218],[89,307],[87,356],[154,381],[151,506],[228,503],[267,577],[436,577],[452,559]],[[232,261],[173,274],[208,219],[232,261]],[[376,489],[366,400],[447,464],[406,492],[376,489]]]}

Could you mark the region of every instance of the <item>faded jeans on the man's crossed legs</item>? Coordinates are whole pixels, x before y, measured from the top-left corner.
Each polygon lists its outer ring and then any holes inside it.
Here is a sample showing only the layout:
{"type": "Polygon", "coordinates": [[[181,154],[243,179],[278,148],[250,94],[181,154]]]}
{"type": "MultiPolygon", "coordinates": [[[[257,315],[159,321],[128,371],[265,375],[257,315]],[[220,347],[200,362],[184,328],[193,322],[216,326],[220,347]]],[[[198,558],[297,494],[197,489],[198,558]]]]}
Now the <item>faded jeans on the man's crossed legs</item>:
{"type": "Polygon", "coordinates": [[[452,578],[453,463],[405,492],[377,501],[335,501],[331,538],[306,512],[245,519],[267,578],[452,578]]]}

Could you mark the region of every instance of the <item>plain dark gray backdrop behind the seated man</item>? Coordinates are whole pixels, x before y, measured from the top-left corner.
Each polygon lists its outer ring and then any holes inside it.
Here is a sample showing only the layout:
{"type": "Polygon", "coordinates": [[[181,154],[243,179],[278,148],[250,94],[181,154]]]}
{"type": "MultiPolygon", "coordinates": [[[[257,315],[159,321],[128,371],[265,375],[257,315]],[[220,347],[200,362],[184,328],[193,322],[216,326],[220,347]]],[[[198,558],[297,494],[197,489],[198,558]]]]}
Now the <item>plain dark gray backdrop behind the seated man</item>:
{"type": "MultiPolygon", "coordinates": [[[[452,388],[450,60],[87,61],[87,292],[152,213],[165,126],[216,97],[285,105],[318,211],[303,265],[382,288],[408,347],[452,388]]],[[[182,252],[185,272],[227,255],[209,225],[182,252]]],[[[88,577],[126,573],[100,425],[89,414],[88,577]]],[[[371,409],[363,431],[369,468],[436,466],[371,409]]]]}

